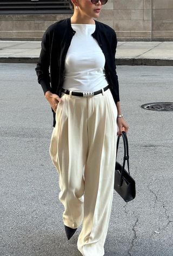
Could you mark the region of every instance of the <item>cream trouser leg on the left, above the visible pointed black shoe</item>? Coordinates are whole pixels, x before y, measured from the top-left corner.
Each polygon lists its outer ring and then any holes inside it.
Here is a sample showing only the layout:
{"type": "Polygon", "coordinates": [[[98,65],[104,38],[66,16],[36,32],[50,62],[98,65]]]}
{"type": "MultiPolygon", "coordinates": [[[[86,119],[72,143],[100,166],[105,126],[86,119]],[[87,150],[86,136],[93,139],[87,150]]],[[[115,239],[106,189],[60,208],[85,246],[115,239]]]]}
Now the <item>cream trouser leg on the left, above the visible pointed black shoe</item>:
{"type": "Polygon", "coordinates": [[[59,200],[64,225],[77,228],[83,221],[84,165],[88,150],[87,100],[62,94],[52,132],[50,157],[59,174],[59,200]]]}

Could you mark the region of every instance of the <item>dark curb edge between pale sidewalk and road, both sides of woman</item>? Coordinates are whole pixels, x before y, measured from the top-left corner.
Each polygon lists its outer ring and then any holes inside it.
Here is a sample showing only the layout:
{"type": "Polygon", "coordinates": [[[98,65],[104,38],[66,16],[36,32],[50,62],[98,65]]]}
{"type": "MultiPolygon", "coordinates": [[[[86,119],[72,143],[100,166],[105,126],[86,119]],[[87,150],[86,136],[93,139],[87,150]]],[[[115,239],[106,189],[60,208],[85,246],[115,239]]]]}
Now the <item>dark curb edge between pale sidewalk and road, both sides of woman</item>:
{"type": "MultiPolygon", "coordinates": [[[[0,63],[37,63],[38,57],[0,57],[0,63]]],[[[116,65],[173,66],[173,59],[117,58],[116,65]]]]}

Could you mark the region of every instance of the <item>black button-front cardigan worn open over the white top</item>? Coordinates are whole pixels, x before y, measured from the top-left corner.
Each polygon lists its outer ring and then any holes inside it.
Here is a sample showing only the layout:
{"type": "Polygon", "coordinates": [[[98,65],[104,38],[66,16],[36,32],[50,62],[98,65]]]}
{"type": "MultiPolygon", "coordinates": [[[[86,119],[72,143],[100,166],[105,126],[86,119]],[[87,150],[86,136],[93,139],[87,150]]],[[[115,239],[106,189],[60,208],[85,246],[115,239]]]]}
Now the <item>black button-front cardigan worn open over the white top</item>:
{"type": "MultiPolygon", "coordinates": [[[[119,101],[118,76],[116,74],[115,53],[117,37],[114,29],[108,25],[96,21],[96,29],[92,37],[97,40],[105,56],[105,75],[110,85],[110,91],[115,104],[119,101]]],[[[46,29],[42,38],[42,48],[36,66],[38,83],[41,84],[43,92],[51,91],[61,98],[64,79],[65,56],[69,49],[72,37],[75,35],[71,27],[70,18],[58,21],[46,29]]],[[[55,112],[53,112],[55,127],[55,112]]]]}

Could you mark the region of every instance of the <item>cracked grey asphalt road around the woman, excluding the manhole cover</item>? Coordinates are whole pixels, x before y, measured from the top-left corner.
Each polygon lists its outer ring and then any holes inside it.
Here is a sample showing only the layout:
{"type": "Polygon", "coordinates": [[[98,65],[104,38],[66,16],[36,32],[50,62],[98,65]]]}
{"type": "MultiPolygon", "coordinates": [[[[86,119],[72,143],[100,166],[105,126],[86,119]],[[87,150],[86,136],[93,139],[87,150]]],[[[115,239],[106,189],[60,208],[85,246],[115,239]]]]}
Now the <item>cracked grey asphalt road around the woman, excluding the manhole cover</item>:
{"type": "MultiPolygon", "coordinates": [[[[117,74],[136,198],[125,203],[114,192],[105,256],[172,256],[172,112],[141,105],[173,101],[173,67],[117,66],[117,74]]],[[[82,255],[81,227],[69,241],[65,236],[49,157],[52,112],[35,64],[1,63],[0,83],[0,255],[82,255]]]]}

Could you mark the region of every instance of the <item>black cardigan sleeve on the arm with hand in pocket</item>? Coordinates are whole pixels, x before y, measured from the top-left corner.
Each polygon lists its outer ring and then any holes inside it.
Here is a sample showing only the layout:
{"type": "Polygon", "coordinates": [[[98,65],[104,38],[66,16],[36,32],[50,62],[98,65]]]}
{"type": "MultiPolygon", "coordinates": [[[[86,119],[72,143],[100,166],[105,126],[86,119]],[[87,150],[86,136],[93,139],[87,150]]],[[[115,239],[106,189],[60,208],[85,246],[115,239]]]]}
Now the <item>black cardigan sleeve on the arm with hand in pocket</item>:
{"type": "Polygon", "coordinates": [[[49,46],[49,30],[47,29],[42,37],[41,53],[35,71],[38,76],[38,83],[42,86],[44,94],[51,91],[50,86],[50,46],[49,46]]]}

